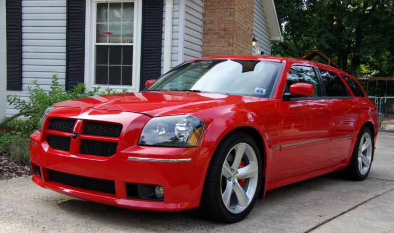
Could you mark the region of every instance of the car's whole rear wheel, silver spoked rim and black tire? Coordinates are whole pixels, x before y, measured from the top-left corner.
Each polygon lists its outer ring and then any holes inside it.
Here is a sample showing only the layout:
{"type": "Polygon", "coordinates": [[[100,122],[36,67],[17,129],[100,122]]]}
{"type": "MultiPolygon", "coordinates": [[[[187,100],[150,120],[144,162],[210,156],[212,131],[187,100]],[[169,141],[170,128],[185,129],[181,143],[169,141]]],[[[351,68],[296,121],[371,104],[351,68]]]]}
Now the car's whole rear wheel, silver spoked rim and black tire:
{"type": "Polygon", "coordinates": [[[367,178],[373,158],[373,138],[368,127],[361,128],[349,165],[341,171],[345,178],[362,181],[367,178]]]}

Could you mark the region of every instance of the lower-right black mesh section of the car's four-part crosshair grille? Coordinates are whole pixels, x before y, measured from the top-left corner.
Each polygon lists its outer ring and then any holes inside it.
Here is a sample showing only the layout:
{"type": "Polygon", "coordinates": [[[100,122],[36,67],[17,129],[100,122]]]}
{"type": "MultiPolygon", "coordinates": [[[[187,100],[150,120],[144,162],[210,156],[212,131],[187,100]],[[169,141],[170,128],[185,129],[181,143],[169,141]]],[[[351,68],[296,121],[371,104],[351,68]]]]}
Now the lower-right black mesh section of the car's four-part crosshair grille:
{"type": "Polygon", "coordinates": [[[93,156],[112,156],[116,153],[117,142],[81,139],[80,152],[93,156]]]}

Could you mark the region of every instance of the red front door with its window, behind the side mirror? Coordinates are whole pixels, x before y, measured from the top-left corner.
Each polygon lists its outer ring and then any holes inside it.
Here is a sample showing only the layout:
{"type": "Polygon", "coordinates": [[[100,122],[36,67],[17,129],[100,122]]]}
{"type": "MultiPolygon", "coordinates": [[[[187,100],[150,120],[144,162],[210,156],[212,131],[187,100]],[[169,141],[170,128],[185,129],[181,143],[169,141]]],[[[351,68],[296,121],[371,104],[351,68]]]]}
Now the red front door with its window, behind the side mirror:
{"type": "Polygon", "coordinates": [[[287,74],[284,92],[289,92],[289,86],[299,82],[312,84],[315,92],[308,98],[279,101],[281,146],[273,163],[275,180],[327,166],[330,111],[327,100],[322,97],[323,89],[316,68],[293,64],[287,74]]]}

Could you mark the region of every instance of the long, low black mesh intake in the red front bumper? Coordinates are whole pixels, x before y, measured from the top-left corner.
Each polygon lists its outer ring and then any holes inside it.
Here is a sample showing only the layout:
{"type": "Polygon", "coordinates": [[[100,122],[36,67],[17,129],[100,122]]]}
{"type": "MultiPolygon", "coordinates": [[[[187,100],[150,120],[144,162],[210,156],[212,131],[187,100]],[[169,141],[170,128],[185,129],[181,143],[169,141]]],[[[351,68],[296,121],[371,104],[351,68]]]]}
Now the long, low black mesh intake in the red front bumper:
{"type": "Polygon", "coordinates": [[[115,181],[78,176],[48,169],[52,181],[89,190],[115,194],[115,181]]]}

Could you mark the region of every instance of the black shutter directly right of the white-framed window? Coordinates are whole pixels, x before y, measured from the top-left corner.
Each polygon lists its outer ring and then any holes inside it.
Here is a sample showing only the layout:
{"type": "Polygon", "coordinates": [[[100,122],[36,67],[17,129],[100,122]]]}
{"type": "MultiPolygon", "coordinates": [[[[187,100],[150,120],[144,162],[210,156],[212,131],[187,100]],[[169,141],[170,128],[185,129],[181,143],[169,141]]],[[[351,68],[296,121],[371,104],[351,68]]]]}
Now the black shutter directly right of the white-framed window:
{"type": "Polygon", "coordinates": [[[142,5],[142,43],[140,90],[160,76],[162,61],[163,0],[144,0],[142,5]]]}

